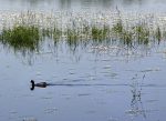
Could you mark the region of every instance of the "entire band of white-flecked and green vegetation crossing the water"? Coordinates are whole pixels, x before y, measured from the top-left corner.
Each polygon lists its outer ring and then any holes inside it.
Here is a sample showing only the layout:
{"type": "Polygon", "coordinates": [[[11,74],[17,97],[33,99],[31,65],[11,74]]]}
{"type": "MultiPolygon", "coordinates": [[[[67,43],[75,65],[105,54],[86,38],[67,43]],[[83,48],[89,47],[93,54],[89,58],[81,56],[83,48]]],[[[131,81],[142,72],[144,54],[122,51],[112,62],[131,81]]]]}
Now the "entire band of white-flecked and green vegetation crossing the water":
{"type": "Polygon", "coordinates": [[[0,42],[14,50],[38,51],[41,40],[52,39],[58,44],[65,40],[70,47],[89,41],[101,43],[117,40],[127,47],[158,43],[164,38],[164,21],[151,14],[127,17],[120,13],[35,13],[28,11],[21,14],[4,16],[0,42]],[[122,16],[120,18],[120,16],[122,16]],[[149,18],[147,18],[149,16],[149,18]],[[10,19],[12,17],[12,19],[10,19]],[[153,22],[152,22],[153,21],[153,22]],[[154,24],[153,24],[154,23],[154,24]]]}

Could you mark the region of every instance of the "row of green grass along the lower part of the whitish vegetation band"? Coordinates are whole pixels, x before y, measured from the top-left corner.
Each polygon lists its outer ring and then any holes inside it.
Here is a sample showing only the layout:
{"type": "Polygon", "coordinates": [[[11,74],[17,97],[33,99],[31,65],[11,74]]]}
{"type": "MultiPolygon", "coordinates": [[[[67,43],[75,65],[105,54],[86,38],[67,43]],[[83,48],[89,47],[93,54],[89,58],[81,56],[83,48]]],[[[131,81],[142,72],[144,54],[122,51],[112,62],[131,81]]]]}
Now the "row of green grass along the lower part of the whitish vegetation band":
{"type": "MultiPolygon", "coordinates": [[[[162,32],[157,28],[154,32],[155,38],[160,41],[162,32]]],[[[34,26],[18,26],[12,29],[3,29],[0,34],[0,42],[3,46],[12,47],[14,50],[39,50],[39,44],[41,40],[46,40],[50,38],[54,40],[54,43],[58,44],[61,40],[66,40],[66,43],[71,49],[80,44],[89,44],[89,41],[92,40],[93,43],[101,44],[105,41],[121,40],[123,44],[129,47],[137,44],[148,44],[151,41],[149,29],[144,26],[135,26],[131,30],[127,30],[123,27],[122,23],[116,23],[113,28],[104,26],[98,28],[96,26],[83,28],[82,31],[79,29],[68,28],[66,31],[61,31],[58,28],[53,29],[40,29],[34,26]]]]}

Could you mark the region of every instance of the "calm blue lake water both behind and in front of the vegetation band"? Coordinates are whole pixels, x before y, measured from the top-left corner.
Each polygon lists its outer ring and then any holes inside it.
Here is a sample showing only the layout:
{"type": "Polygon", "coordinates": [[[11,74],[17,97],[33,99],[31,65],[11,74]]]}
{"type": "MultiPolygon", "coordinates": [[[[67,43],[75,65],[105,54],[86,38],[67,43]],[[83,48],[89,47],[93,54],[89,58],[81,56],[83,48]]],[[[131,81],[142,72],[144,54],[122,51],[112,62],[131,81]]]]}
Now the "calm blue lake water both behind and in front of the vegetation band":
{"type": "MultiPolygon", "coordinates": [[[[165,11],[162,2],[117,3],[143,10],[157,4],[165,11]]],[[[0,1],[1,11],[95,10],[115,6],[111,0],[0,1]]],[[[58,47],[45,42],[42,47],[40,52],[23,56],[0,46],[1,121],[165,121],[165,41],[132,50],[103,50],[90,44],[77,46],[73,51],[65,42],[58,47]],[[54,85],[32,91],[31,79],[54,85]]]]}

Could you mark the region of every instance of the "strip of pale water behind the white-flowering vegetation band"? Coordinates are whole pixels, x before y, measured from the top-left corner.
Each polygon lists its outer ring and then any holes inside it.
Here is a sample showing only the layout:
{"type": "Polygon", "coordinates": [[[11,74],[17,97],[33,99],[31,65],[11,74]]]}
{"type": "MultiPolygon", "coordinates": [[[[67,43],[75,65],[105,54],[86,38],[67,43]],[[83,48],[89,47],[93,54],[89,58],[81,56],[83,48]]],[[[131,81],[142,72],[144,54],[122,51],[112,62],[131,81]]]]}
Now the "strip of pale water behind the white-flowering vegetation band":
{"type": "Polygon", "coordinates": [[[0,10],[121,10],[166,11],[165,0],[0,0],[0,10]]]}

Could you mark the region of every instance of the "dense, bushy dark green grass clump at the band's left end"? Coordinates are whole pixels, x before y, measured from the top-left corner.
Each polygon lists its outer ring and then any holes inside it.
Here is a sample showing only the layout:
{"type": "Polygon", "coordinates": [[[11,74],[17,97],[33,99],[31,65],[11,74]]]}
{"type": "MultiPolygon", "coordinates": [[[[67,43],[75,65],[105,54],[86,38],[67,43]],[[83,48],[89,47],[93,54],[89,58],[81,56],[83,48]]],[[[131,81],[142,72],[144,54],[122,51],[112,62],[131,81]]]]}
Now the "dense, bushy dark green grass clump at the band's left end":
{"type": "Polygon", "coordinates": [[[0,42],[14,48],[14,50],[38,50],[40,40],[40,31],[34,26],[18,26],[12,29],[3,29],[0,34],[0,42]]]}

